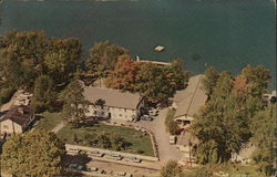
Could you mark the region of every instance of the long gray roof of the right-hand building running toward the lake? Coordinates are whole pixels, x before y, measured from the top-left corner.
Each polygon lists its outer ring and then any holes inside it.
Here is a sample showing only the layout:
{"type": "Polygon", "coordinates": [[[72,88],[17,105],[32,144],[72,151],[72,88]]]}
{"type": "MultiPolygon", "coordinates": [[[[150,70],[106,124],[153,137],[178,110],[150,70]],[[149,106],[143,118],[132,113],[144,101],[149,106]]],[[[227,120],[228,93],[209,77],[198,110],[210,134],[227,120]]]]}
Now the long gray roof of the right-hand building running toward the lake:
{"type": "Polygon", "coordinates": [[[178,91],[173,101],[177,105],[175,117],[189,115],[194,116],[198,110],[205,105],[207,96],[202,88],[202,82],[204,75],[192,76],[188,81],[188,85],[185,90],[178,91]]]}

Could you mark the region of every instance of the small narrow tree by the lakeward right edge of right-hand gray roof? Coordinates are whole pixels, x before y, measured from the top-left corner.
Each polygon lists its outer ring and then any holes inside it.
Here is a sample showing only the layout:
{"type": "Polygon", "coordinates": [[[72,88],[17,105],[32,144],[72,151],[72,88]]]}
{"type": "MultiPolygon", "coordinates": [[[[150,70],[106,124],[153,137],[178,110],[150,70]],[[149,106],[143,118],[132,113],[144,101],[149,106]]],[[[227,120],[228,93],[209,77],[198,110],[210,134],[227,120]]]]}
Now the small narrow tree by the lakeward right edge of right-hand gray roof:
{"type": "Polygon", "coordinates": [[[216,86],[218,74],[213,66],[209,66],[205,70],[204,75],[205,77],[202,80],[202,84],[209,100],[216,86]]]}

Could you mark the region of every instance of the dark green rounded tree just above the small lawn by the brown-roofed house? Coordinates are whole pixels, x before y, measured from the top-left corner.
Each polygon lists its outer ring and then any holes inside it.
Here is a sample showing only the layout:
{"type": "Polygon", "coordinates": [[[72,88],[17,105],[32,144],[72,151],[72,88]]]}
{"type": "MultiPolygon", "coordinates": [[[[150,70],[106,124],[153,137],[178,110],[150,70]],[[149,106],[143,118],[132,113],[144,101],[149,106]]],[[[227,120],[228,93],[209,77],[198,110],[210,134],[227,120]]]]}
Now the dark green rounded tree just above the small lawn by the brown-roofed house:
{"type": "Polygon", "coordinates": [[[35,80],[31,106],[37,113],[41,113],[52,107],[51,105],[55,96],[53,90],[53,81],[48,75],[40,75],[35,80]]]}

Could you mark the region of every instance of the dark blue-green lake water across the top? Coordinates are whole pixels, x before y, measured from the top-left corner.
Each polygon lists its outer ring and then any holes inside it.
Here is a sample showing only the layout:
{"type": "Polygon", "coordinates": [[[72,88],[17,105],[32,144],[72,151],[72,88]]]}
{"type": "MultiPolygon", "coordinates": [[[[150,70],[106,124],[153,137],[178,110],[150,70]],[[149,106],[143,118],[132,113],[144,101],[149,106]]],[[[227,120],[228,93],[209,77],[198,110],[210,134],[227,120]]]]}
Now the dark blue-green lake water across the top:
{"type": "Polygon", "coordinates": [[[0,34],[75,37],[84,56],[94,42],[110,40],[141,59],[184,59],[193,74],[205,63],[233,74],[249,63],[265,65],[276,81],[273,0],[4,0],[0,10],[0,34]],[[155,52],[157,44],[166,50],[155,52]]]}

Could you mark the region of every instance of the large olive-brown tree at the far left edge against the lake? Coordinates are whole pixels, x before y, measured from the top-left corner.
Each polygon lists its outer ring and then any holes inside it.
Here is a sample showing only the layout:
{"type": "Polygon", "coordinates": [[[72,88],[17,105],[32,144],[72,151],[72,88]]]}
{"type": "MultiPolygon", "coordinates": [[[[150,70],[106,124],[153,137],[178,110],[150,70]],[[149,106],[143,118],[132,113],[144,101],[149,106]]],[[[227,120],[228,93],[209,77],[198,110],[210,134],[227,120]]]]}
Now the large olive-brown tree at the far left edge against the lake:
{"type": "Polygon", "coordinates": [[[40,74],[40,70],[38,69],[41,65],[45,52],[44,33],[35,31],[11,31],[4,34],[1,41],[0,51],[1,53],[6,53],[7,56],[7,60],[3,61],[3,67],[12,71],[6,72],[7,81],[24,86],[32,85],[35,76],[40,74]],[[20,75],[20,77],[17,77],[18,75],[20,75]]]}

